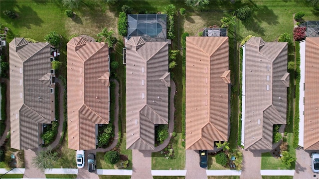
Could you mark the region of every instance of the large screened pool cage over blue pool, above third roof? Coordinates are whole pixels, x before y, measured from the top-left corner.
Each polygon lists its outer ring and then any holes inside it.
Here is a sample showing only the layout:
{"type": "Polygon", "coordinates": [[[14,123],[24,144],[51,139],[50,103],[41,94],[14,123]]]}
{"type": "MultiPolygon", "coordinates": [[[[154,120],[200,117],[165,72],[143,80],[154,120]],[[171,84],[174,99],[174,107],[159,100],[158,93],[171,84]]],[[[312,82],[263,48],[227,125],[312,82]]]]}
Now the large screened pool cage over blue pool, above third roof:
{"type": "Polygon", "coordinates": [[[133,36],[166,41],[166,14],[128,14],[128,39],[133,36]]]}

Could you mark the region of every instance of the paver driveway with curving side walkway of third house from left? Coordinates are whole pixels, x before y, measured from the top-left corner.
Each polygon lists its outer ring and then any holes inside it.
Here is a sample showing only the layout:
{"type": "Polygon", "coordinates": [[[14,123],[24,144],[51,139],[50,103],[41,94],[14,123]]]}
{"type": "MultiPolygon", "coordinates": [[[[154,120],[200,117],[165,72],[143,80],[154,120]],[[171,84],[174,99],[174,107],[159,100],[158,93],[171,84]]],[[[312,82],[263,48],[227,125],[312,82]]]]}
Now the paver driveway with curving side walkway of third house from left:
{"type": "Polygon", "coordinates": [[[152,179],[152,152],[159,152],[164,149],[171,138],[171,133],[174,130],[174,96],[176,92],[175,83],[170,81],[169,94],[169,123],[168,123],[168,138],[164,142],[151,150],[132,150],[133,172],[131,179],[152,179]]]}

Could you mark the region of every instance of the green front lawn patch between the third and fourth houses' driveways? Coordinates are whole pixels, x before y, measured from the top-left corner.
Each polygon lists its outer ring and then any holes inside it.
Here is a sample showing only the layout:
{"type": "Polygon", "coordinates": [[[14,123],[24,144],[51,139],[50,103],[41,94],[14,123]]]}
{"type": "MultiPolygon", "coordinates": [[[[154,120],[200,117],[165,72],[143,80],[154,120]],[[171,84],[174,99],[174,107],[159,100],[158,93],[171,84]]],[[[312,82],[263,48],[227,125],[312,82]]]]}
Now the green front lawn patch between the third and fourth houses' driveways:
{"type": "Polygon", "coordinates": [[[168,160],[160,152],[152,153],[152,170],[184,170],[185,149],[181,146],[181,133],[171,139],[175,158],[168,160]]]}

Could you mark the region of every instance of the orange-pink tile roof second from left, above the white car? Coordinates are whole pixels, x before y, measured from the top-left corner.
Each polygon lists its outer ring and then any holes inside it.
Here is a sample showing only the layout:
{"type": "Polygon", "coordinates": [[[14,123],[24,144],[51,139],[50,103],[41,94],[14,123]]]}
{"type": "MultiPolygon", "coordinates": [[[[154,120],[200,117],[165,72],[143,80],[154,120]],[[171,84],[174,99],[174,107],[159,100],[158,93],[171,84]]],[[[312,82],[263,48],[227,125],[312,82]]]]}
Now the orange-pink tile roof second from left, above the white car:
{"type": "Polygon", "coordinates": [[[96,148],[96,124],[110,115],[109,50],[107,45],[82,37],[67,43],[69,148],[96,148]]]}

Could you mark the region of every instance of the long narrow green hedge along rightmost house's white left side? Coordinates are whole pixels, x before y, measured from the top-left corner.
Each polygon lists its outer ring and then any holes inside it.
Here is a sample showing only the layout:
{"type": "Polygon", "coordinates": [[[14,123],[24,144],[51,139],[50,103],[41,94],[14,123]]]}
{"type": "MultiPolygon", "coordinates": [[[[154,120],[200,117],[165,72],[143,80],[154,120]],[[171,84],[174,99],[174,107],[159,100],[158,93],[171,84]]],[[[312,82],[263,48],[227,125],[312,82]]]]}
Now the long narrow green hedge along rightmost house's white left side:
{"type": "MultiPolygon", "coordinates": [[[[296,91],[295,91],[295,104],[299,104],[299,96],[300,96],[300,44],[296,41],[296,91]]],[[[297,148],[299,143],[299,105],[295,105],[295,120],[294,120],[294,139],[293,139],[293,147],[297,148]]]]}

